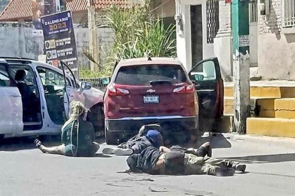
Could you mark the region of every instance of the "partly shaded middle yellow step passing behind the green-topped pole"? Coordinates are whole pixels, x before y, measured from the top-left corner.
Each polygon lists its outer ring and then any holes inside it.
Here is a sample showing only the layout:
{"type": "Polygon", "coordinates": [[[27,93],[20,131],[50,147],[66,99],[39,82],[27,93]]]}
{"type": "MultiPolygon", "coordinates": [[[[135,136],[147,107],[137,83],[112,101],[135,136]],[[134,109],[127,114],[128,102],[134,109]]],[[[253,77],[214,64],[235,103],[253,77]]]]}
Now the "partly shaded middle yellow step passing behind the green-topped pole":
{"type": "MultiPolygon", "coordinates": [[[[251,109],[258,110],[258,117],[272,118],[275,117],[274,112],[274,100],[276,98],[262,98],[262,97],[252,97],[251,98],[251,109]]],[[[234,98],[224,97],[224,113],[234,114],[234,98]]]]}

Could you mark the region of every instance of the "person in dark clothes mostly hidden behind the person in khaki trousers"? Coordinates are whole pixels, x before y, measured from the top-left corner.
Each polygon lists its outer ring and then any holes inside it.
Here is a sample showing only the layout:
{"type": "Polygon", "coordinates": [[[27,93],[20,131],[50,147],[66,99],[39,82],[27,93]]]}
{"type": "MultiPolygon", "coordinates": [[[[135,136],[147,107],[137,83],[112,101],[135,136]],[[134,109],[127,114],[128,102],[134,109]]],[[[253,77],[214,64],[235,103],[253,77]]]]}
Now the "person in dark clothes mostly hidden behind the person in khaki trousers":
{"type": "Polygon", "coordinates": [[[198,149],[194,148],[184,148],[178,145],[171,146],[170,148],[167,148],[165,146],[160,146],[159,150],[161,152],[170,152],[170,151],[176,151],[181,153],[187,153],[187,154],[193,154],[198,157],[211,157],[212,156],[212,148],[210,142],[203,143],[198,149]]]}

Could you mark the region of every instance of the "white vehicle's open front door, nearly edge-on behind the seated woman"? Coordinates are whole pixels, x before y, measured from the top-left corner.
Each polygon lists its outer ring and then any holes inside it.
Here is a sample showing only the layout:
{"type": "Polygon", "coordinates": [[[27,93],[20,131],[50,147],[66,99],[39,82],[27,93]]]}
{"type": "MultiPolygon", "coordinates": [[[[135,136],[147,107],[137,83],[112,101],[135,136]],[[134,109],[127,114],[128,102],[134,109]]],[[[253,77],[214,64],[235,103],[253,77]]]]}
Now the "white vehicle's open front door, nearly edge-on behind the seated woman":
{"type": "Polygon", "coordinates": [[[62,68],[62,72],[63,72],[63,79],[64,79],[64,88],[63,88],[63,104],[64,104],[64,111],[65,111],[65,117],[66,119],[69,119],[70,116],[70,103],[74,100],[77,100],[77,97],[75,97],[76,92],[77,91],[76,88],[78,88],[78,85],[76,83],[76,78],[75,75],[73,74],[72,70],[67,66],[66,63],[60,61],[60,65],[62,68]],[[71,87],[67,84],[67,79],[66,79],[66,75],[65,75],[65,68],[67,68],[70,73],[73,76],[74,79],[74,87],[71,87]]]}

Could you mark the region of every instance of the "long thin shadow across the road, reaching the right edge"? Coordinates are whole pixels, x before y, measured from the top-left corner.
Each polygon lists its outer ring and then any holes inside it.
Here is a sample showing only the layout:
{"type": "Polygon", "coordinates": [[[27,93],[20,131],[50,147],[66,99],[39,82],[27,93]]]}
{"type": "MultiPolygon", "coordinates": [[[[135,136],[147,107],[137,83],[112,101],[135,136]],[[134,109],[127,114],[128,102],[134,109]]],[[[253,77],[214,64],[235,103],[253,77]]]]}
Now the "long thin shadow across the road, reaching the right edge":
{"type": "Polygon", "coordinates": [[[236,160],[241,163],[248,163],[248,164],[278,163],[278,162],[295,161],[295,153],[255,155],[255,156],[245,156],[245,157],[223,157],[220,159],[236,160]]]}

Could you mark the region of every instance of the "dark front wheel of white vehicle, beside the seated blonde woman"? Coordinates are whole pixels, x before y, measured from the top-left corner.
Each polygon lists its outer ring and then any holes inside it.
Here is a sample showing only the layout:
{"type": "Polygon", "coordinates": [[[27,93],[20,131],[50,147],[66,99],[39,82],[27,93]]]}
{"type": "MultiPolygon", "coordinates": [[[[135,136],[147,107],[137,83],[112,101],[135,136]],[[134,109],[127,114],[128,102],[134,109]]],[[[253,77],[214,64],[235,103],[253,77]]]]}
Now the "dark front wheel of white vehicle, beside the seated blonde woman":
{"type": "Polygon", "coordinates": [[[104,132],[104,113],[103,106],[101,104],[96,104],[87,115],[87,121],[93,124],[95,130],[95,138],[103,138],[104,132]]]}

